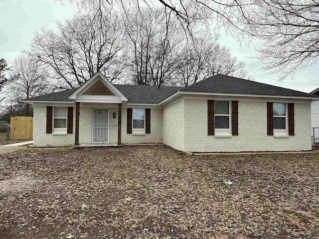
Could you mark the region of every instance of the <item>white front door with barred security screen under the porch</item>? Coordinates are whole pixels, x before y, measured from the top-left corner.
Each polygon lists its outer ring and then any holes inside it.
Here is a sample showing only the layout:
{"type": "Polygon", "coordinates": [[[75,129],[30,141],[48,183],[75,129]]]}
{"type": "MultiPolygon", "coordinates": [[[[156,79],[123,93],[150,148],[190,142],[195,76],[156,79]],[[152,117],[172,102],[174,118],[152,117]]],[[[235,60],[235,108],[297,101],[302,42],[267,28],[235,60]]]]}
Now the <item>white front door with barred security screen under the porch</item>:
{"type": "Polygon", "coordinates": [[[109,142],[109,110],[93,109],[93,143],[109,142]]]}

